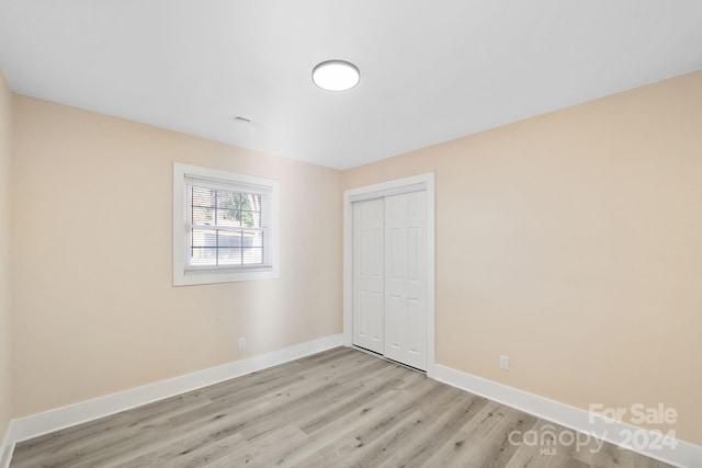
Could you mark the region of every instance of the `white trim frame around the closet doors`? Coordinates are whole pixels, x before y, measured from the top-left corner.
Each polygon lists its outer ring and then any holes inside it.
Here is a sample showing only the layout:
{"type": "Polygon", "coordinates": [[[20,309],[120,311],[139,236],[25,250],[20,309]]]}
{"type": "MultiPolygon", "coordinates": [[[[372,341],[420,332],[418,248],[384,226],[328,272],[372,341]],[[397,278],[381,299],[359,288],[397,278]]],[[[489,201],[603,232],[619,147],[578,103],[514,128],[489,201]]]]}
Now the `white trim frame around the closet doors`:
{"type": "Polygon", "coordinates": [[[343,344],[353,346],[353,203],[427,192],[427,376],[435,374],[434,359],[434,173],[412,175],[343,192],[343,344]]]}

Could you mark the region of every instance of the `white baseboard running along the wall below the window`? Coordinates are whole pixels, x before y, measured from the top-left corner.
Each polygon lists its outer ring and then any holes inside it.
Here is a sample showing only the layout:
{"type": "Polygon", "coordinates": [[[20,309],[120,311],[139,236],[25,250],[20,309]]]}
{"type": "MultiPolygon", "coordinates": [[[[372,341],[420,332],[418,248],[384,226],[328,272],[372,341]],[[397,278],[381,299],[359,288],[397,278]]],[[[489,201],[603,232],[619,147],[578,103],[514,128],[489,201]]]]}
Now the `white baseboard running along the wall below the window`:
{"type": "Polygon", "coordinates": [[[154,401],[170,398],[180,393],[196,390],[208,385],[239,377],[252,372],[273,367],[288,361],[298,359],[310,354],[341,346],[343,335],[336,334],[319,340],[297,344],[284,350],[248,357],[234,363],[224,364],[197,370],[192,374],[174,377],[168,380],[137,387],[117,393],[94,398],[80,403],[56,408],[43,413],[12,420],[5,434],[5,441],[0,446],[0,468],[7,468],[14,444],[37,437],[49,432],[70,427],[110,414],[118,413],[132,408],[148,404],[154,401]],[[7,455],[5,455],[7,454],[7,455]],[[7,456],[7,460],[4,459],[7,456]]]}

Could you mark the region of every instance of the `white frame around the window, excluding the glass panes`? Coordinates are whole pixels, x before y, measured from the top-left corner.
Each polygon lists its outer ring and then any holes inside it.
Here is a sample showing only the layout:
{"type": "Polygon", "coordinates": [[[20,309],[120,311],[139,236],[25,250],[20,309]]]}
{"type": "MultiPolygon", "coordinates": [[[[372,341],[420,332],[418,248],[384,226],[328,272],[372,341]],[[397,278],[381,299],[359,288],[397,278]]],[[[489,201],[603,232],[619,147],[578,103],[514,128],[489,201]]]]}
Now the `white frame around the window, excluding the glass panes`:
{"type": "Polygon", "coordinates": [[[280,277],[280,182],[273,179],[237,174],[199,165],[173,163],[173,286],[196,284],[230,283],[251,279],[269,279],[280,277]],[[269,237],[270,266],[222,266],[210,269],[188,269],[188,251],[190,250],[189,228],[185,220],[188,191],[185,178],[202,178],[217,181],[224,185],[258,185],[270,190],[269,237]]]}

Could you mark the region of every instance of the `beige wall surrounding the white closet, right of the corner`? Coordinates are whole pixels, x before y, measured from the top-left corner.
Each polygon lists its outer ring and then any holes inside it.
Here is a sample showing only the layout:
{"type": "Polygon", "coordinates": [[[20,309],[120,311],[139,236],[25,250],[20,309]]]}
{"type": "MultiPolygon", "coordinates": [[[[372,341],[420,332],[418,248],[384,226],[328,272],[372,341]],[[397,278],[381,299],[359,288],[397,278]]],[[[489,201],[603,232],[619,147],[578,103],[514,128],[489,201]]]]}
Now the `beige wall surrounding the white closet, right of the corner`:
{"type": "Polygon", "coordinates": [[[439,364],[584,409],[663,402],[702,444],[702,72],[343,183],[428,171],[439,364]]]}

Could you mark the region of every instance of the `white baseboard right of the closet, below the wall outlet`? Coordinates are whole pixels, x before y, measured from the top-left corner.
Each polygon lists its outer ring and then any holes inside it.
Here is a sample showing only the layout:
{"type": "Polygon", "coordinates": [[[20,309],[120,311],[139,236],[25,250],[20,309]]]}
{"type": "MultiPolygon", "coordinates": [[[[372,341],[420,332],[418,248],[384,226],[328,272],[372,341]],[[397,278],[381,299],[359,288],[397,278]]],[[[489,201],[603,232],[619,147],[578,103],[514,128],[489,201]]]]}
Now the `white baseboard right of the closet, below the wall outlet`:
{"type": "Polygon", "coordinates": [[[702,467],[702,447],[699,445],[676,440],[673,441],[675,448],[666,445],[654,448],[633,447],[626,444],[627,438],[631,441],[627,434],[645,432],[645,434],[641,434],[644,435],[645,441],[655,441],[659,436],[642,427],[608,420],[599,414],[486,380],[451,367],[437,365],[434,379],[567,429],[597,435],[598,438],[669,465],[681,468],[702,467]]]}

